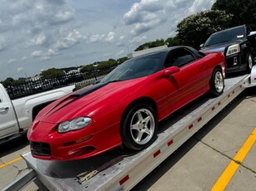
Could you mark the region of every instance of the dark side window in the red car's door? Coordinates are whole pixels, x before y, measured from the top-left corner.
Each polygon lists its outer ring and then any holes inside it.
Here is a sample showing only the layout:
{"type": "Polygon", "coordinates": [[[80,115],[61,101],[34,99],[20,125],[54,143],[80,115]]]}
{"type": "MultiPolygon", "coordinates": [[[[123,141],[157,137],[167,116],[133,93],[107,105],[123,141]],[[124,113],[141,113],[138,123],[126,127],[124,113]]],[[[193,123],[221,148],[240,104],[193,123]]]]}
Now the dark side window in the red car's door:
{"type": "Polygon", "coordinates": [[[184,48],[180,48],[178,50],[173,50],[169,52],[164,66],[165,67],[169,67],[169,66],[182,67],[195,60],[196,60],[195,57],[192,55],[190,51],[184,48]]]}

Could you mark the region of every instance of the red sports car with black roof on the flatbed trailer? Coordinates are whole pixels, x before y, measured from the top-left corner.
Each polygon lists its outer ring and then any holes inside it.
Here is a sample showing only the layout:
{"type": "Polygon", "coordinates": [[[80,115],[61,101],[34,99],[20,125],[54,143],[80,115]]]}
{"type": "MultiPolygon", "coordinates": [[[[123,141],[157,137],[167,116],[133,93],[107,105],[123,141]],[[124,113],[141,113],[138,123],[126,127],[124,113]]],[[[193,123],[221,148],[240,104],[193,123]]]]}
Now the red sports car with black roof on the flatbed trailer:
{"type": "Polygon", "coordinates": [[[156,139],[158,121],[206,92],[223,93],[221,53],[170,47],[137,56],[102,81],[44,108],[28,130],[33,157],[84,159],[123,144],[140,150],[156,139]]]}

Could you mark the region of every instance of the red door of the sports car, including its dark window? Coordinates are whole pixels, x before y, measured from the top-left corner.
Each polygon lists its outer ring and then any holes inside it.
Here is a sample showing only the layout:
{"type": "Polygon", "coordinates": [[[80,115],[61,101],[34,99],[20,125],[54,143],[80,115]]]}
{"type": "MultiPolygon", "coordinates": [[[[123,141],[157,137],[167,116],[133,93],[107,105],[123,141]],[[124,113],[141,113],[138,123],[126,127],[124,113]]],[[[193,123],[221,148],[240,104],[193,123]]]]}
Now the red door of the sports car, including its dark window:
{"type": "Polygon", "coordinates": [[[176,90],[169,92],[168,96],[172,112],[205,92],[208,71],[206,64],[185,47],[168,53],[165,67],[169,66],[178,66],[180,69],[169,79],[171,88],[174,86],[176,90]]]}

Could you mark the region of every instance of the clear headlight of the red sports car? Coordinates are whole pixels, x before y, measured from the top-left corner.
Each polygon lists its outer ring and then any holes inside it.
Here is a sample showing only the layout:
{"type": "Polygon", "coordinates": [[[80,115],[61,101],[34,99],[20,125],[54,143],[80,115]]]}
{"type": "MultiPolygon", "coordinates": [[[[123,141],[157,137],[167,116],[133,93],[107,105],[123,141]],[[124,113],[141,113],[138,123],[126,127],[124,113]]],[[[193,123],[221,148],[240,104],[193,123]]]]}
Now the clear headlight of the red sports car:
{"type": "Polygon", "coordinates": [[[72,130],[80,130],[88,126],[91,122],[92,119],[88,117],[78,117],[73,120],[64,121],[58,125],[58,133],[66,133],[72,130]]]}

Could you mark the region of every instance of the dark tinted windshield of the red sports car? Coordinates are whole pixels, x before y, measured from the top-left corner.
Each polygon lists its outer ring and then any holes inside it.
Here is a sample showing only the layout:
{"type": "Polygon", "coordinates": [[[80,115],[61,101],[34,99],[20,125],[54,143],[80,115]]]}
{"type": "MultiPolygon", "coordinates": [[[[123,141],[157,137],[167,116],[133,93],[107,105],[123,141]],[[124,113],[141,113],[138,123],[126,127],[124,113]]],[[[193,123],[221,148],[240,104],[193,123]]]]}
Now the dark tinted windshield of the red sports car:
{"type": "Polygon", "coordinates": [[[146,56],[134,57],[111,71],[101,82],[127,81],[149,76],[163,68],[166,52],[160,51],[146,56]]]}

